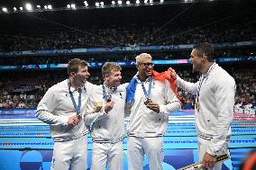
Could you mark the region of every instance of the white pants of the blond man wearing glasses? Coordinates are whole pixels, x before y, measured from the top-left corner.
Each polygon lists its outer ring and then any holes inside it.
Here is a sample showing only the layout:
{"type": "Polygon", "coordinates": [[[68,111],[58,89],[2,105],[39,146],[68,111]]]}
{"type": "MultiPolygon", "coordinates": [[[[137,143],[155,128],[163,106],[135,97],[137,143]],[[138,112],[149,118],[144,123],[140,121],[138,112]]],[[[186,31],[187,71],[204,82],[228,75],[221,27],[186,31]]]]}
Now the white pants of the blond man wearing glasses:
{"type": "Polygon", "coordinates": [[[162,170],[162,137],[128,137],[128,169],[142,170],[145,154],[149,159],[149,166],[151,170],[162,170]]]}

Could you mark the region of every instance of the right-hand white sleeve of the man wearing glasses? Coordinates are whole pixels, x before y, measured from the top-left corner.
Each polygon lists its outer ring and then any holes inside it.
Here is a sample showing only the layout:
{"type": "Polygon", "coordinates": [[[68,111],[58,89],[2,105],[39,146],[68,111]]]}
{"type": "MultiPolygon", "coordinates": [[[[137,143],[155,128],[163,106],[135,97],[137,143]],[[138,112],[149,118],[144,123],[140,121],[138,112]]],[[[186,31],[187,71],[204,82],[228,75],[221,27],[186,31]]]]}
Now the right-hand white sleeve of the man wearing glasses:
{"type": "Polygon", "coordinates": [[[181,105],[178,101],[178,97],[176,94],[174,94],[168,81],[165,81],[164,94],[164,98],[167,104],[160,105],[160,114],[169,114],[171,112],[179,111],[181,109],[181,105]]]}

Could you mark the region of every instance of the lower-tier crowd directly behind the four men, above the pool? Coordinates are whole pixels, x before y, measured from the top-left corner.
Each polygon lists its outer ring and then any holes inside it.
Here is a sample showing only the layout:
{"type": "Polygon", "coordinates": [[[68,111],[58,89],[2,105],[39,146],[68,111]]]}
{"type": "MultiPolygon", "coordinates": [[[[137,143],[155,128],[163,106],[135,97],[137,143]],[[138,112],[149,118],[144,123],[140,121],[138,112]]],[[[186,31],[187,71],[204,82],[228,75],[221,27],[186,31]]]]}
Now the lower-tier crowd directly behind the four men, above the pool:
{"type": "MultiPolygon", "coordinates": [[[[92,74],[88,81],[101,85],[102,76],[99,69],[89,70],[92,74]]],[[[236,94],[234,108],[256,109],[256,72],[229,70],[236,81],[236,94]]],[[[135,69],[123,69],[123,83],[129,82],[136,73],[135,69]]],[[[199,75],[188,69],[178,70],[178,76],[190,82],[197,82],[199,75]]],[[[51,85],[67,78],[64,71],[32,73],[32,76],[21,76],[19,79],[5,76],[0,82],[0,108],[36,108],[41,97],[51,85]]],[[[183,103],[183,109],[193,109],[195,96],[178,89],[178,94],[183,103]]]]}

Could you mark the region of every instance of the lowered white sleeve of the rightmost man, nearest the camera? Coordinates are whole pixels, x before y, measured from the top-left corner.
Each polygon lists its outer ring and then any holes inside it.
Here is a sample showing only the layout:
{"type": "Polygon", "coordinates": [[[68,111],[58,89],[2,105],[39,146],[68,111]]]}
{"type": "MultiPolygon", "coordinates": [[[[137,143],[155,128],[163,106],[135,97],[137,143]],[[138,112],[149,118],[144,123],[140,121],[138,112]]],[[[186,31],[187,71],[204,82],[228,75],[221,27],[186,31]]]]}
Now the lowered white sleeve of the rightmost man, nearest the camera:
{"type": "Polygon", "coordinates": [[[226,143],[227,133],[233,121],[234,94],[235,82],[233,79],[222,78],[222,80],[216,80],[215,101],[218,119],[213,139],[206,148],[206,152],[210,155],[219,155],[226,143]]]}

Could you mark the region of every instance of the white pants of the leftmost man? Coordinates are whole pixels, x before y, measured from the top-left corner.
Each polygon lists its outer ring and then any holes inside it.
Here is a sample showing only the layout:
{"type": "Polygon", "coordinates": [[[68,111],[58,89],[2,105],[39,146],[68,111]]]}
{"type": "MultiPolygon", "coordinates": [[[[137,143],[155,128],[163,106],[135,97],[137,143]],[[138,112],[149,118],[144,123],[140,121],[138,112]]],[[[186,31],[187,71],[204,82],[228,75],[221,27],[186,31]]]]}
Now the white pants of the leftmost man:
{"type": "Polygon", "coordinates": [[[54,142],[50,170],[87,169],[87,136],[54,142]]]}

